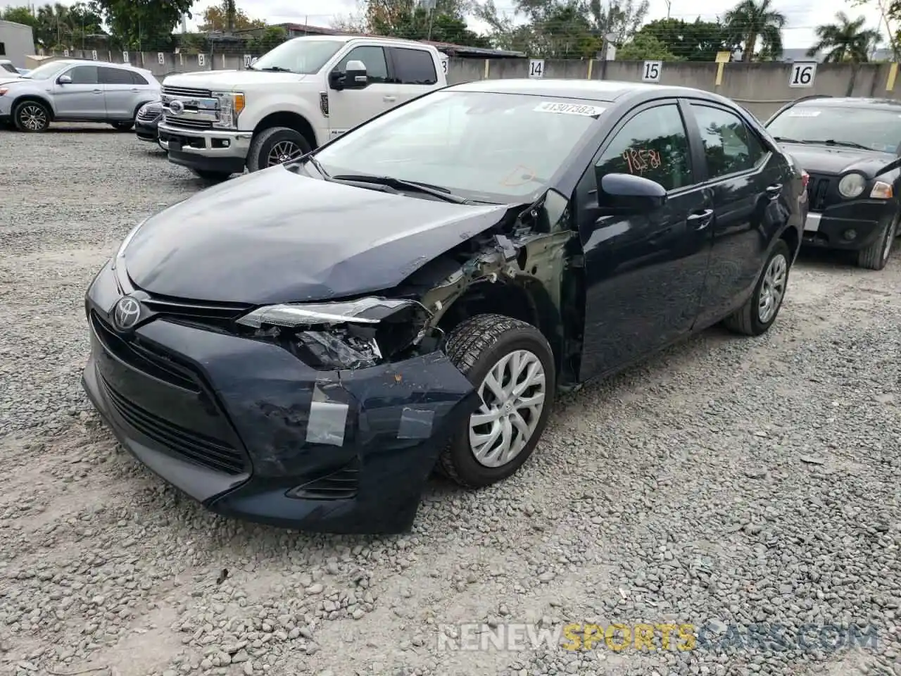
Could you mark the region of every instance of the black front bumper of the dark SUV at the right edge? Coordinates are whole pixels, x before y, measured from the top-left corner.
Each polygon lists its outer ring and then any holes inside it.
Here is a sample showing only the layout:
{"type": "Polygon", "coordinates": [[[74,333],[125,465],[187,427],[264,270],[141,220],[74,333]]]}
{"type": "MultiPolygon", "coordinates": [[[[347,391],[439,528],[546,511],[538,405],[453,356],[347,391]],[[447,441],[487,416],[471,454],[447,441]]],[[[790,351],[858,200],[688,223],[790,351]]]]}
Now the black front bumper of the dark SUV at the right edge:
{"type": "Polygon", "coordinates": [[[822,212],[809,212],[804,225],[804,243],[828,249],[858,251],[874,242],[897,214],[898,203],[889,199],[859,199],[822,212]],[[848,238],[845,233],[854,232],[848,238]]]}

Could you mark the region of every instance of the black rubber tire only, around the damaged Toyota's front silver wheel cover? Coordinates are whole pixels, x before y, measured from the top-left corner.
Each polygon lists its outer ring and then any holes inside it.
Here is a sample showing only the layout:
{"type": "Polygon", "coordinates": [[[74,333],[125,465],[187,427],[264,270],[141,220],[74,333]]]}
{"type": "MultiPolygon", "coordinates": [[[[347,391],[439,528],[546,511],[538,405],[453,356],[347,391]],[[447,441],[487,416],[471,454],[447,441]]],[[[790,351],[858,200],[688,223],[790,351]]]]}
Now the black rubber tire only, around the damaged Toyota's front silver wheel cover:
{"type": "MultiPolygon", "coordinates": [[[[445,352],[451,362],[477,388],[480,395],[482,395],[483,389],[486,392],[482,397],[482,406],[476,413],[462,421],[460,427],[452,433],[450,443],[441,452],[438,459],[438,469],[460,486],[467,488],[489,486],[506,479],[518,470],[523,462],[532,455],[535,445],[542,436],[548,423],[548,416],[551,414],[556,387],[553,352],[542,333],[532,324],[526,324],[505,315],[476,315],[469,318],[453,330],[448,338],[445,352]],[[504,367],[501,365],[505,359],[511,358],[514,354],[520,355],[520,358],[525,357],[532,360],[523,372],[532,371],[535,369],[535,364],[540,365],[540,369],[543,370],[543,382],[539,379],[536,385],[536,387],[543,386],[542,407],[537,411],[537,415],[532,409],[531,416],[529,416],[530,411],[527,407],[514,407],[514,411],[524,412],[525,415],[519,413],[519,421],[525,425],[526,430],[531,428],[531,433],[528,434],[525,443],[520,445],[518,452],[515,452],[512,458],[506,461],[494,458],[496,464],[491,466],[492,458],[484,461],[478,460],[476,450],[470,441],[470,424],[475,416],[483,415],[487,409],[495,407],[496,397],[485,385],[485,380],[496,368],[503,369],[504,367]]],[[[512,384],[508,383],[507,387],[512,384]]],[[[522,399],[523,397],[518,397],[514,401],[522,401],[522,399]]],[[[504,410],[504,408],[501,407],[499,410],[504,410]]],[[[507,410],[509,411],[509,409],[507,410]]],[[[506,426],[506,429],[512,434],[510,437],[512,441],[519,442],[523,438],[523,432],[520,432],[519,426],[514,425],[516,419],[509,412],[506,415],[495,414],[495,419],[496,423],[489,422],[479,425],[473,434],[478,434],[479,431],[482,434],[492,434],[494,428],[498,431],[494,434],[501,434],[499,439],[503,440],[506,426]]],[[[495,439],[487,443],[489,450],[495,448],[499,439],[495,436],[495,439]]]]}

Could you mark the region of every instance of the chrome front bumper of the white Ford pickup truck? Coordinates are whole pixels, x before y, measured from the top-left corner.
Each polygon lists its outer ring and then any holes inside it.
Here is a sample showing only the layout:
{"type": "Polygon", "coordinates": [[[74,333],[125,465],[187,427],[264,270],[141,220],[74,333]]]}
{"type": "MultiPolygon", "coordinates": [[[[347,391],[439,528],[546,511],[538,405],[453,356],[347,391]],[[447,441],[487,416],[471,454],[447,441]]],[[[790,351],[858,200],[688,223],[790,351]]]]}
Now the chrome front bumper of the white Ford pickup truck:
{"type": "Polygon", "coordinates": [[[253,132],[183,129],[159,123],[159,141],[169,161],[188,169],[240,174],[252,138],[253,132]]]}

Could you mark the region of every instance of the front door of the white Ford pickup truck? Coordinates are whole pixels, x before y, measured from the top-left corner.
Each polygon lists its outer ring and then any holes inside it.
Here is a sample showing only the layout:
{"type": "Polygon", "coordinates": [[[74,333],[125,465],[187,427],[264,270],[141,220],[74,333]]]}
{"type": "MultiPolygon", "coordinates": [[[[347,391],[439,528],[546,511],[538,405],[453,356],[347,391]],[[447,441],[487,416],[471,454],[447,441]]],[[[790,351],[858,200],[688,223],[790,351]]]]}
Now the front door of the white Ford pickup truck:
{"type": "Polygon", "coordinates": [[[348,61],[354,60],[366,65],[369,84],[362,89],[329,89],[329,140],[396,105],[395,87],[387,84],[385,50],[375,45],[360,45],[345,54],[334,70],[344,72],[348,61]]]}

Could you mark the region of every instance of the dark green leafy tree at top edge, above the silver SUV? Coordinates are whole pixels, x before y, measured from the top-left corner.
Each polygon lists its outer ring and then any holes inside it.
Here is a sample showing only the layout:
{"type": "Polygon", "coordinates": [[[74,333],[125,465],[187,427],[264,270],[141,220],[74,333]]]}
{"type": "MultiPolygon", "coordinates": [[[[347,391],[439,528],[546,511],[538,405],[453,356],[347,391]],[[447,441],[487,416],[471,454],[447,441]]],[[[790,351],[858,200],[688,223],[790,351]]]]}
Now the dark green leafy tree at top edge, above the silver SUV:
{"type": "Polygon", "coordinates": [[[192,0],[97,0],[114,40],[135,50],[170,50],[174,29],[192,0]]]}

